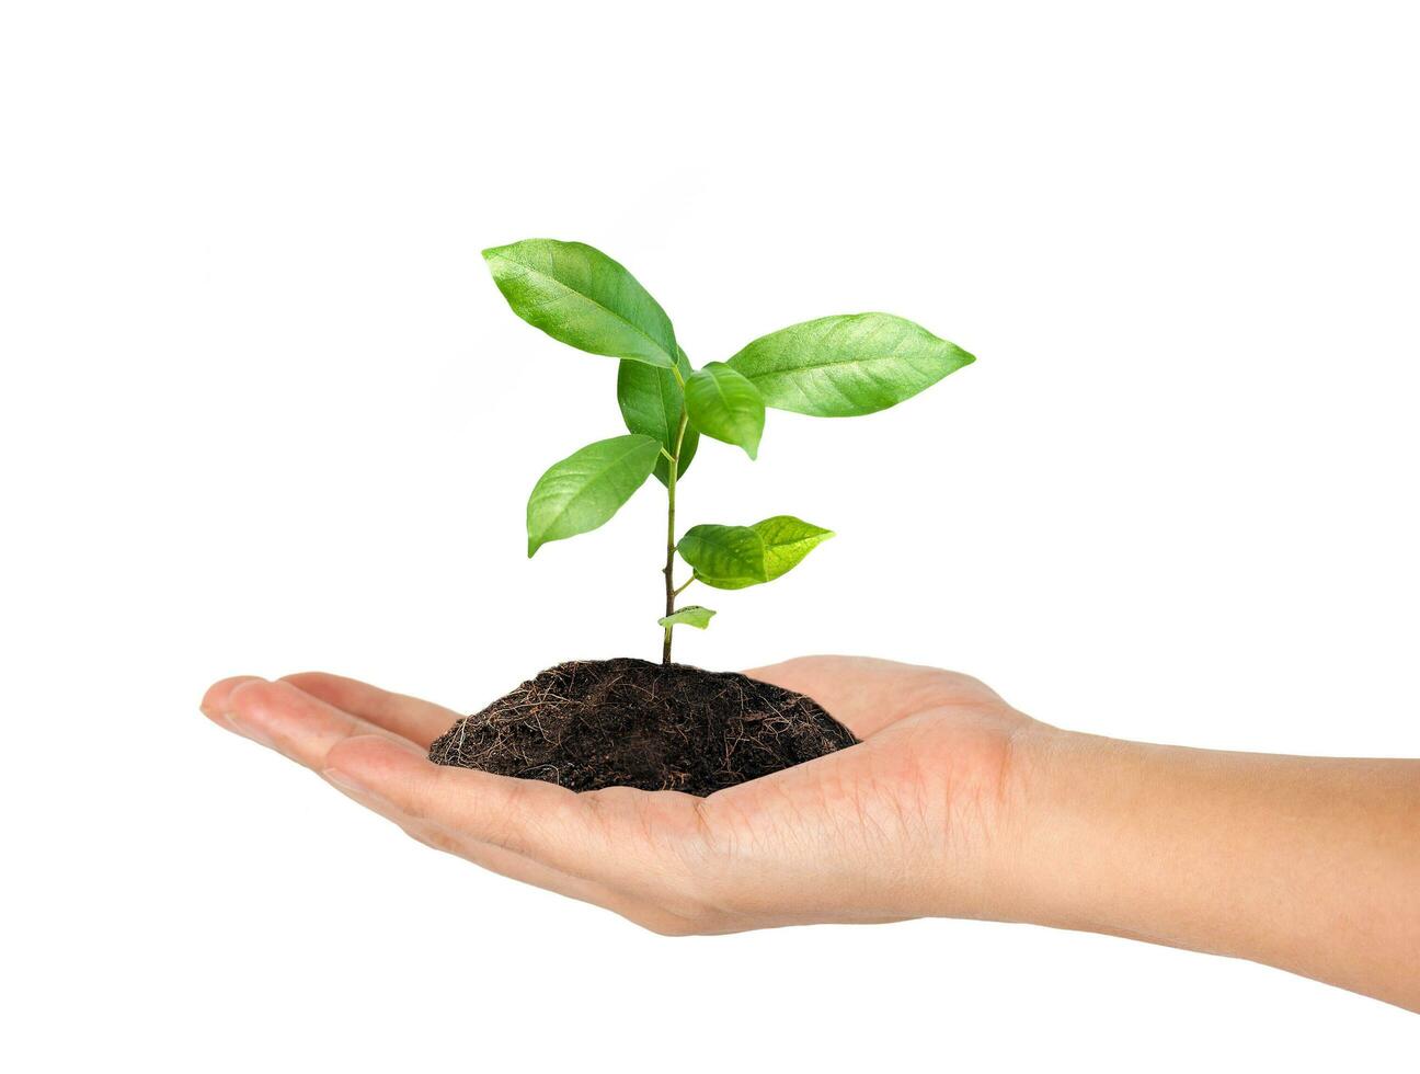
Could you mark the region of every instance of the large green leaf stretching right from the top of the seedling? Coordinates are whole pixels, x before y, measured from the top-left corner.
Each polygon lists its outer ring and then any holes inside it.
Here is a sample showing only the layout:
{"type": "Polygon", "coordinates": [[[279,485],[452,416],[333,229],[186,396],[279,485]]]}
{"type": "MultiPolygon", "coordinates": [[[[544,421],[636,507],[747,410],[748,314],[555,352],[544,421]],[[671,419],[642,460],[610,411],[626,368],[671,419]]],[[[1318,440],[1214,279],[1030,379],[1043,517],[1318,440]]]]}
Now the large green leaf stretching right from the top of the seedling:
{"type": "Polygon", "coordinates": [[[780,411],[818,418],[873,413],[976,358],[892,314],[819,317],[761,335],[728,365],[780,411]]]}

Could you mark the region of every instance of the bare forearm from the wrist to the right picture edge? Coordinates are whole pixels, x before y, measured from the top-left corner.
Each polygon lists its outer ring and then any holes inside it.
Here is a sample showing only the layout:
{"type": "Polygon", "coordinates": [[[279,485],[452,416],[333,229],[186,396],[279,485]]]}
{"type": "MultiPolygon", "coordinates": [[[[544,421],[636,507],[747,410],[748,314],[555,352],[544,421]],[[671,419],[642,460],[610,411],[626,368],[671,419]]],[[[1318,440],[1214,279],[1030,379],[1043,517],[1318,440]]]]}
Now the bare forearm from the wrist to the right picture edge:
{"type": "Polygon", "coordinates": [[[1420,761],[1051,733],[1021,797],[1011,916],[1420,1010],[1420,761]]]}

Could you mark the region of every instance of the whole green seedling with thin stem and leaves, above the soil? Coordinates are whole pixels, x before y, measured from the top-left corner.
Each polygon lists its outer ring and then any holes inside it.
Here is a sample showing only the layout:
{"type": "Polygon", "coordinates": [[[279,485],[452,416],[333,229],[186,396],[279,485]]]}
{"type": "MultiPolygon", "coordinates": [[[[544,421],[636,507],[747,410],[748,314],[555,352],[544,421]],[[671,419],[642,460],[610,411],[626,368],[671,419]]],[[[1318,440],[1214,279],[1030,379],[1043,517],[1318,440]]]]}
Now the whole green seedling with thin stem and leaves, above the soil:
{"type": "Polygon", "coordinates": [[[616,402],[629,430],[589,443],[544,473],[528,499],[528,555],[606,523],[655,473],[666,486],[663,663],[676,626],[709,608],[676,608],[692,582],[741,590],[792,570],[831,530],[791,514],[753,526],[692,526],[676,540],[676,489],[701,435],[760,450],[764,409],[851,418],[900,403],[974,358],[882,313],[839,314],[763,335],[724,362],[690,365],[660,304],[636,277],[584,243],[525,239],[483,251],[513,311],[581,351],[621,359],[616,402]],[[676,553],[690,577],[676,584],[676,553]]]}

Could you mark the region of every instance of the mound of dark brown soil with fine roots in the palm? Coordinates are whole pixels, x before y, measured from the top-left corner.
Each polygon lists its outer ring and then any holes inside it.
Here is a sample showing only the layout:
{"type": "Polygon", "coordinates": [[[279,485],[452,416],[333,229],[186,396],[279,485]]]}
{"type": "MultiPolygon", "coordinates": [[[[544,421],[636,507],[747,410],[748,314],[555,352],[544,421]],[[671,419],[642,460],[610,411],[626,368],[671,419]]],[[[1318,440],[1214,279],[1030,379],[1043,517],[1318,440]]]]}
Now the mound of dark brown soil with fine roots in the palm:
{"type": "Polygon", "coordinates": [[[858,742],[809,698],[630,658],[548,668],[429,747],[429,760],[571,790],[701,797],[858,742]]]}

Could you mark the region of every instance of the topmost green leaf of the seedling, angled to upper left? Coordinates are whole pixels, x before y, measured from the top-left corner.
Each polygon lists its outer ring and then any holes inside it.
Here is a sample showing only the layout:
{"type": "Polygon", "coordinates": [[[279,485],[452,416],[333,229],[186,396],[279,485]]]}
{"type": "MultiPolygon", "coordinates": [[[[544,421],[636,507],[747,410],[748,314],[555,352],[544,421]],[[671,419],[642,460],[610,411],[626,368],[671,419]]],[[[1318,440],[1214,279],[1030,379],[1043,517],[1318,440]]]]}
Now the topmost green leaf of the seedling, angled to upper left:
{"type": "Polygon", "coordinates": [[[554,340],[665,369],[676,331],[660,304],[621,264],[585,243],[524,239],[483,251],[513,313],[554,340]]]}

